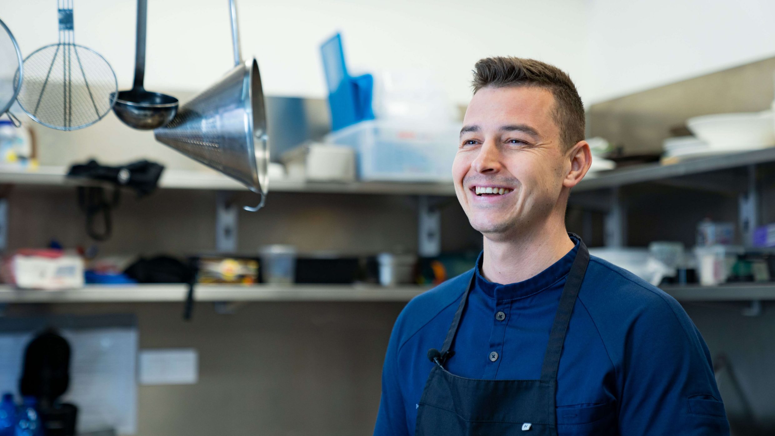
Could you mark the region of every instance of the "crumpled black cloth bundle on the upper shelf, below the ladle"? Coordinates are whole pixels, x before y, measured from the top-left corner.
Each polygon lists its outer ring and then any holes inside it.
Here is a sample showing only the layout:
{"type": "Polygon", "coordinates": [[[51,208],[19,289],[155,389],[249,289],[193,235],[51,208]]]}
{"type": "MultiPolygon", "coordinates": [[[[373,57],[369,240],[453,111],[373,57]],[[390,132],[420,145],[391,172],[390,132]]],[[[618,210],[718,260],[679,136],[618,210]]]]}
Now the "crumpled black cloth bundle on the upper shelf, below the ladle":
{"type": "Polygon", "coordinates": [[[151,161],[136,161],[119,167],[108,167],[95,160],[74,164],[67,177],[91,178],[134,189],[138,196],[150,194],[157,188],[164,165],[151,161]]]}

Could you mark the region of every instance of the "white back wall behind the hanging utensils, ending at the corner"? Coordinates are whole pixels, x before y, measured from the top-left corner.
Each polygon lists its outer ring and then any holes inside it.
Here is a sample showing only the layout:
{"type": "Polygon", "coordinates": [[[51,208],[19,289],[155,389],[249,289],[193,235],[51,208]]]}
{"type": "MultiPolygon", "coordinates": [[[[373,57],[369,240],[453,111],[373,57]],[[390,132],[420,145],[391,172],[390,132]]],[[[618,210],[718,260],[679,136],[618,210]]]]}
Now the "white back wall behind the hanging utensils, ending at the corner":
{"type": "MultiPolygon", "coordinates": [[[[55,5],[0,0],[22,54],[56,42],[55,5]]],[[[584,0],[237,0],[237,7],[243,56],[257,57],[270,95],[327,95],[319,44],[336,31],[353,68],[429,68],[453,102],[470,98],[474,62],[496,54],[550,61],[580,85],[587,81],[584,0]]],[[[129,88],[135,0],[77,0],[74,11],[77,42],[104,55],[119,88],[129,88]]],[[[226,72],[233,62],[228,11],[227,0],[149,2],[146,88],[195,90],[226,72]]]]}

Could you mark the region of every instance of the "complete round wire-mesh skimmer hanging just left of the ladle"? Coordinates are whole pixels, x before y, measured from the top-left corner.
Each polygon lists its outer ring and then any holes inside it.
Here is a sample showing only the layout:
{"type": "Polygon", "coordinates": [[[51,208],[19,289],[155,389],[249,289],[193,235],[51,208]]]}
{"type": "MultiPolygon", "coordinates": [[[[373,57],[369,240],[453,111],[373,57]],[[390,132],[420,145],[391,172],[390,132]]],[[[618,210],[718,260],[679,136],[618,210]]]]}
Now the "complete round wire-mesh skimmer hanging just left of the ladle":
{"type": "Polygon", "coordinates": [[[76,130],[107,115],[118,82],[100,54],[75,43],[73,1],[57,0],[59,43],[35,50],[24,60],[24,81],[17,100],[43,126],[76,130]]]}

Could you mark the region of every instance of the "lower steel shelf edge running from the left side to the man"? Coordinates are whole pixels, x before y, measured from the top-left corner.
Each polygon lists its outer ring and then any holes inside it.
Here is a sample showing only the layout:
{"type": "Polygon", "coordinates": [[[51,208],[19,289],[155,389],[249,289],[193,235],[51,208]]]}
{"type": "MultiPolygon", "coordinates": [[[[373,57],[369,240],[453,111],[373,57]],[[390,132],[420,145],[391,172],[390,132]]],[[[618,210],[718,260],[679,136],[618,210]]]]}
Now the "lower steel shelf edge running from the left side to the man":
{"type": "MultiPolygon", "coordinates": [[[[196,301],[408,301],[427,286],[401,285],[197,285],[196,301]]],[[[181,302],[187,285],[87,285],[61,291],[0,286],[0,303],[163,303],[181,302]]]]}

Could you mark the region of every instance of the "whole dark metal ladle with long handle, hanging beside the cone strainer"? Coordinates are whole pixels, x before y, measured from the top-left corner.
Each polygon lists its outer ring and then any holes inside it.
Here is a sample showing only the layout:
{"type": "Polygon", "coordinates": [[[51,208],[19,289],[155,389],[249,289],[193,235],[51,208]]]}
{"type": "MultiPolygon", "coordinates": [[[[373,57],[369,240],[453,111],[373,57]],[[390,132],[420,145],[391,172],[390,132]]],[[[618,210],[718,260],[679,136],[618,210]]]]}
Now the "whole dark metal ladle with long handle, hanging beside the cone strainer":
{"type": "Polygon", "coordinates": [[[177,113],[177,99],[143,88],[145,76],[145,35],[147,0],[137,0],[137,47],[135,51],[135,83],[129,91],[119,92],[113,112],[129,127],[153,130],[165,126],[177,113]]]}

